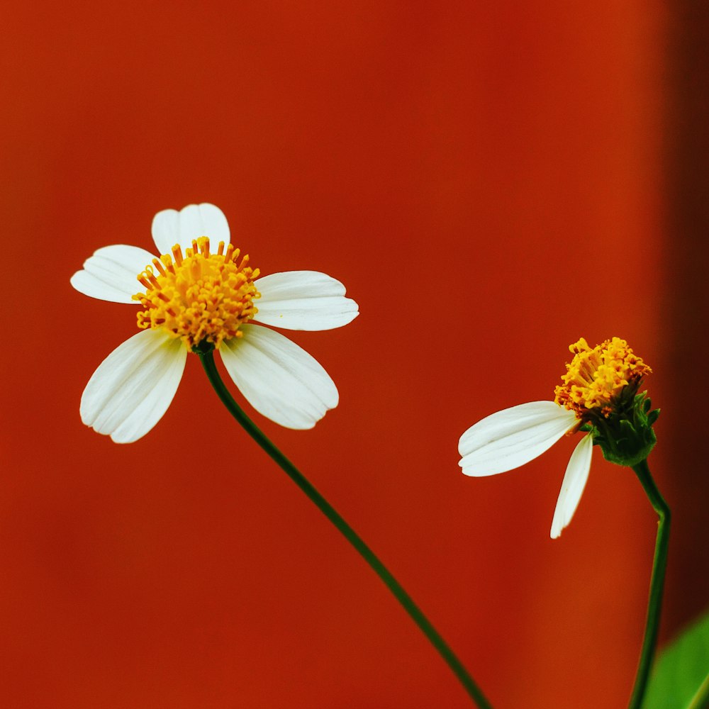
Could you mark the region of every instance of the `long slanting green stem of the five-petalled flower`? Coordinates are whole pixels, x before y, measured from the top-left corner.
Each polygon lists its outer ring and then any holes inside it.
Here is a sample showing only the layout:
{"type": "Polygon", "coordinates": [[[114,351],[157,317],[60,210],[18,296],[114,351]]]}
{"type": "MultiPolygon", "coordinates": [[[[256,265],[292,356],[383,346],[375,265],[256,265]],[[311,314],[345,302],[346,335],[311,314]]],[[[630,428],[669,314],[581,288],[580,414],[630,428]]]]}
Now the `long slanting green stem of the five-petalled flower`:
{"type": "Polygon", "coordinates": [[[485,698],[480,688],[468,674],[462,662],[455,656],[454,652],[445,640],[438,634],[428,618],[423,615],[418,605],[416,605],[411,596],[403,590],[401,584],[391,575],[389,569],[379,561],[372,549],[362,541],[350,525],[340,516],[330,503],[313,487],[294,464],[292,464],[283,453],[262,433],[255,423],[242,411],[241,407],[234,401],[229,390],[224,385],[216,364],[214,363],[213,352],[197,351],[211,385],[214,387],[217,395],[222,403],[233,417],[242,425],[245,431],[257,442],[262,449],[269,454],[281,469],[294,481],[294,483],[304,492],[310,500],[315,503],[316,507],[337,527],[342,535],[345,536],[348,542],[357,549],[357,552],[362,556],[365,562],[374,570],[374,573],[384,581],[389,591],[393,593],[396,600],[401,603],[406,613],[411,616],[413,622],[423,630],[423,634],[428,637],[430,643],[437,649],[440,656],[445,660],[446,664],[452,669],[453,674],[459,679],[468,695],[477,703],[481,709],[492,709],[492,705],[485,698]]]}

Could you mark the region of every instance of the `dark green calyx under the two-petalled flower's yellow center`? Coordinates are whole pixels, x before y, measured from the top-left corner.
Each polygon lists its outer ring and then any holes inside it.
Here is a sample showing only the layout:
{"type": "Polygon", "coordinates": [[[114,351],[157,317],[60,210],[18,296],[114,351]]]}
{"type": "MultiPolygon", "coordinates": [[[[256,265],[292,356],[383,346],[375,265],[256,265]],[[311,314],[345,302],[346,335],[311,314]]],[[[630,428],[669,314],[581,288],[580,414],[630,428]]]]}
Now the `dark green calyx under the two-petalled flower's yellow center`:
{"type": "Polygon", "coordinates": [[[646,459],[657,442],[652,425],[659,408],[652,408],[647,393],[636,391],[637,387],[626,387],[607,416],[599,412],[582,427],[591,432],[593,445],[601,448],[606,460],[627,467],[646,459]]]}

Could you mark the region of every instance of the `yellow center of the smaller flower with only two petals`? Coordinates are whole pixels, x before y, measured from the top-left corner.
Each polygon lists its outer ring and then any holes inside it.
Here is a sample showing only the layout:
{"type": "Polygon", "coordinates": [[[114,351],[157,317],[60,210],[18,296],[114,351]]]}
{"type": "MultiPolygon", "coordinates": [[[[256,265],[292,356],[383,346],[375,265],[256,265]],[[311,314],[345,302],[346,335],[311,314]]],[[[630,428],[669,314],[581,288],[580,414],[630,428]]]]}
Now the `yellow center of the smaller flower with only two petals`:
{"type": "Polygon", "coordinates": [[[574,411],[579,419],[588,418],[593,410],[608,417],[620,391],[629,384],[637,388],[642,377],[652,372],[620,337],[593,348],[581,337],[569,351],[574,359],[566,364],[563,384],[554,390],[554,401],[574,411]]]}

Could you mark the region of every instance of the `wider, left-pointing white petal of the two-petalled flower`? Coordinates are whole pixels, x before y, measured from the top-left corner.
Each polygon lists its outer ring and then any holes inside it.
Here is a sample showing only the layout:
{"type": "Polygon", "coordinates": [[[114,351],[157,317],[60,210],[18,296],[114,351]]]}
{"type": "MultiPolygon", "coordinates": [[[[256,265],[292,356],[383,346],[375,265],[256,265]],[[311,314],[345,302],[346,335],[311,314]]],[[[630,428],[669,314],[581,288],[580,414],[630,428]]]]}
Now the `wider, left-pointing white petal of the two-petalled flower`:
{"type": "Polygon", "coordinates": [[[471,476],[496,475],[530,462],[576,425],[553,401],[532,401],[493,413],[460,437],[459,466],[471,476]]]}

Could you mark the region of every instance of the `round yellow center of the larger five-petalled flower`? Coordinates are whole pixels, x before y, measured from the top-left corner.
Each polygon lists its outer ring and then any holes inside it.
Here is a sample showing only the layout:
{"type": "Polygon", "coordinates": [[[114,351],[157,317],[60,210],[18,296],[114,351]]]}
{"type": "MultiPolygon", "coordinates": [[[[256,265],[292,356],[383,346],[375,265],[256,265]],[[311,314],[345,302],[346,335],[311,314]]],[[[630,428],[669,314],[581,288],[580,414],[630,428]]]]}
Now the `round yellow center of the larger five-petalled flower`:
{"type": "Polygon", "coordinates": [[[178,244],[172,255],[152,259],[138,274],[145,292],[133,296],[145,308],[138,313],[138,327],[164,328],[190,348],[202,340],[219,347],[223,340],[241,337],[240,325],[258,312],[253,301],[260,294],[254,284],[259,270],[247,265],[248,255],[239,256],[231,244],[225,250],[223,241],[211,254],[203,236],[184,255],[178,244]]]}

